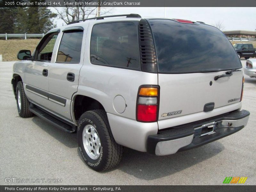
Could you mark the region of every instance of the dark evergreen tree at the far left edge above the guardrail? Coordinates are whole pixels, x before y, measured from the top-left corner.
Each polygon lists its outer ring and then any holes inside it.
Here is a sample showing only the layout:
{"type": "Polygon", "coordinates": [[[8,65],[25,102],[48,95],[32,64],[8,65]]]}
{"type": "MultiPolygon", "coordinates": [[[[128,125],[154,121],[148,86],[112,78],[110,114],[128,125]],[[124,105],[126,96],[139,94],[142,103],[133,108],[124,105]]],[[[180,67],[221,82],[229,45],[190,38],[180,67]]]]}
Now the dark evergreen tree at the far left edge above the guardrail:
{"type": "Polygon", "coordinates": [[[17,7],[1,7],[0,15],[0,33],[14,33],[17,7]]]}

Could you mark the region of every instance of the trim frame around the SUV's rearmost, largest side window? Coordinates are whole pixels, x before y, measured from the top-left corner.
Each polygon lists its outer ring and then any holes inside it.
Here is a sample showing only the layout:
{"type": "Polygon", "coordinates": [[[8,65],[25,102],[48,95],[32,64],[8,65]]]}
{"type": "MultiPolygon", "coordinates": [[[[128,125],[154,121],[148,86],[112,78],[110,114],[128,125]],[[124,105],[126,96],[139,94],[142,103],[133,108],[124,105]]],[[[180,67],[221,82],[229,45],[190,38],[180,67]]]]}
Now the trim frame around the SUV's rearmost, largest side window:
{"type": "MultiPolygon", "coordinates": [[[[134,71],[141,71],[141,66],[140,66],[140,65],[139,65],[140,68],[136,69],[136,68],[127,68],[127,67],[121,67],[121,66],[115,66],[115,65],[108,65],[108,64],[97,64],[97,63],[93,63],[93,62],[91,61],[91,40],[92,40],[92,30],[93,30],[93,27],[94,27],[95,25],[100,25],[100,24],[103,24],[103,23],[122,23],[122,22],[125,22],[125,23],[127,23],[127,22],[133,23],[133,24],[135,24],[135,26],[136,26],[137,29],[138,29],[138,27],[139,27],[139,21],[137,21],[137,20],[109,21],[109,22],[95,23],[95,24],[92,25],[92,27],[91,27],[91,34],[89,35],[89,37],[90,37],[90,40],[89,40],[89,50],[90,50],[90,51],[89,51],[89,60],[90,60],[90,63],[91,63],[92,65],[99,65],[99,66],[105,66],[105,67],[123,68],[123,69],[129,69],[129,70],[134,70],[134,71]]],[[[138,37],[138,54],[139,54],[139,63],[140,63],[139,31],[136,30],[136,32],[137,32],[137,37],[138,37]]]]}

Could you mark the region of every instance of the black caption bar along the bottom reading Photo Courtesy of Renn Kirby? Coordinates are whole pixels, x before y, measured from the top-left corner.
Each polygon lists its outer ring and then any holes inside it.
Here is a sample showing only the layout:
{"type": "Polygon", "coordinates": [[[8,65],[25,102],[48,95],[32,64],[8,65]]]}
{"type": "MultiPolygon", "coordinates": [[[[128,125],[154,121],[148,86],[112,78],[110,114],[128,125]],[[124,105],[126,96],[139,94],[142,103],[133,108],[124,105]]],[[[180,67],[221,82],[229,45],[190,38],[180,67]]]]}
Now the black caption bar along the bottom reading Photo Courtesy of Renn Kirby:
{"type": "MultiPolygon", "coordinates": [[[[214,176],[212,176],[214,177],[214,176]]],[[[224,180],[225,178],[223,178],[224,180]]],[[[248,179],[250,179],[248,177],[248,179]]],[[[247,180],[248,180],[247,179],[247,180]]],[[[222,181],[220,181],[220,184],[222,184],[222,181]]],[[[212,185],[170,185],[170,186],[164,186],[164,185],[158,185],[158,186],[149,186],[149,185],[105,185],[105,186],[96,186],[96,185],[5,185],[0,186],[1,192],[169,192],[169,191],[179,191],[179,192],[200,192],[200,191],[207,191],[207,192],[215,192],[215,191],[221,191],[221,192],[251,192],[256,191],[256,186],[252,185],[244,185],[244,184],[224,184],[221,186],[212,185]],[[13,188],[14,190],[7,190],[6,188],[13,188]],[[22,190],[23,188],[28,188],[27,190],[22,190]],[[32,188],[32,190],[31,190],[32,188]],[[43,190],[39,190],[39,188],[45,188],[43,190]],[[62,190],[61,190],[62,188],[62,190]],[[57,190],[58,189],[58,190],[57,190]],[[63,190],[64,189],[64,190],[63,190]],[[80,189],[80,190],[79,190],[80,189]],[[103,190],[100,190],[103,189],[103,190]],[[111,190],[113,189],[113,190],[111,190]]]]}

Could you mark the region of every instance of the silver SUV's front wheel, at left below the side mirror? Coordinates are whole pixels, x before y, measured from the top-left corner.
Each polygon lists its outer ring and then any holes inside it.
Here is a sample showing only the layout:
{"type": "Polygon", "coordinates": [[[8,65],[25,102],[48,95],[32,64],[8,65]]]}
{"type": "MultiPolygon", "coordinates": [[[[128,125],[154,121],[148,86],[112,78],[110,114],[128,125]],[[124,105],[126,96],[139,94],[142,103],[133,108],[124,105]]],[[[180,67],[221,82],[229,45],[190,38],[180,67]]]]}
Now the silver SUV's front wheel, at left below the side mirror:
{"type": "Polygon", "coordinates": [[[17,103],[19,116],[21,117],[33,116],[33,113],[28,109],[29,101],[26,97],[23,84],[21,81],[17,83],[17,87],[16,87],[16,103],[17,103]]]}

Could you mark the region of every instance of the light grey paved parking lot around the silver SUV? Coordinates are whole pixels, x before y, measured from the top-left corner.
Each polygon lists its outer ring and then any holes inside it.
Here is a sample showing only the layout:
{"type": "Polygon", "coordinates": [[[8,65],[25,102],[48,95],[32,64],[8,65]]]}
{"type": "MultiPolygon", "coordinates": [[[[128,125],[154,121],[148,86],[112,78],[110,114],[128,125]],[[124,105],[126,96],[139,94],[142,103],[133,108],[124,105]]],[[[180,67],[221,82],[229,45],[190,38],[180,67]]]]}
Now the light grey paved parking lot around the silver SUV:
{"type": "Polygon", "coordinates": [[[221,185],[225,177],[248,177],[245,184],[256,183],[256,78],[245,76],[243,109],[251,115],[241,131],[170,156],[125,148],[115,169],[99,173],[84,164],[76,134],[62,132],[37,116],[18,115],[11,85],[13,63],[0,62],[1,185],[26,184],[6,183],[8,177],[62,179],[28,183],[47,185],[221,185]]]}

